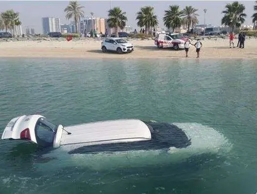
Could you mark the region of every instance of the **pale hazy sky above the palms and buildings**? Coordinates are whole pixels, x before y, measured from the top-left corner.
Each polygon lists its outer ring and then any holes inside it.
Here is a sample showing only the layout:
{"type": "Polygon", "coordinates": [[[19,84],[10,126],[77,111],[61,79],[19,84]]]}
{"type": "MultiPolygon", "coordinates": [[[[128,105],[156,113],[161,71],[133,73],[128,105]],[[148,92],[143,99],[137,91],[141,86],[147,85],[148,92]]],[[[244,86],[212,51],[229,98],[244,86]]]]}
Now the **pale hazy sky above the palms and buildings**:
{"type": "MultiPolygon", "coordinates": [[[[118,6],[122,11],[127,13],[127,24],[132,26],[133,29],[137,28],[136,13],[140,7],[150,5],[154,7],[154,12],[158,16],[159,26],[163,27],[164,10],[167,10],[169,5],[179,5],[181,9],[185,6],[193,6],[198,9],[199,23],[204,23],[204,9],[206,12],[206,24],[220,25],[223,14],[221,12],[227,3],[233,1],[193,1],[193,0],[84,0],[79,3],[84,6],[85,15],[90,15],[93,12],[97,17],[107,17],[107,10],[111,7],[118,6]]],[[[247,14],[245,25],[252,24],[253,6],[255,1],[240,1],[245,5],[245,13],[247,14]]],[[[28,26],[34,28],[36,33],[42,33],[42,17],[53,16],[61,19],[61,24],[69,23],[65,18],[64,9],[69,4],[69,1],[3,1],[0,0],[0,12],[8,9],[14,9],[19,12],[20,21],[22,22],[23,30],[28,26]]]]}

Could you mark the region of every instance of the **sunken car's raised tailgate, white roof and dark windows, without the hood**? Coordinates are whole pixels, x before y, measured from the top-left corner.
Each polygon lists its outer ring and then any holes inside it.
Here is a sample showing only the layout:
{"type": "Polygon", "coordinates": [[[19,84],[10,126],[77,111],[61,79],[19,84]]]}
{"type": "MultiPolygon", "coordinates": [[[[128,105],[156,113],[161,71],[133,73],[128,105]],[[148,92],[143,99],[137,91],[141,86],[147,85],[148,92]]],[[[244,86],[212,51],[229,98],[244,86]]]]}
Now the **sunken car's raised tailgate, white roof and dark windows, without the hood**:
{"type": "Polygon", "coordinates": [[[78,148],[84,148],[83,152],[91,153],[126,151],[125,149],[185,148],[191,144],[183,130],[169,123],[118,119],[64,127],[51,123],[41,115],[23,115],[12,119],[1,138],[27,140],[52,148],[72,145],[69,151],[73,153],[78,148]],[[159,130],[162,130],[161,135],[159,130]]]}

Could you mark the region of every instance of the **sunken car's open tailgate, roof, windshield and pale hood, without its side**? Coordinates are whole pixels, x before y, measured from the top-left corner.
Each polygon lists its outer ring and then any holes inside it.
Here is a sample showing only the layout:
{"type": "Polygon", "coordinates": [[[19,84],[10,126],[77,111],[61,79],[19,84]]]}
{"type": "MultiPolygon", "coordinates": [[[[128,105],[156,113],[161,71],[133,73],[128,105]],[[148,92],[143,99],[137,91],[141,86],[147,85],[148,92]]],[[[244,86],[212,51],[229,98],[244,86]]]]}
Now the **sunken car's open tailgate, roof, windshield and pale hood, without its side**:
{"type": "Polygon", "coordinates": [[[117,119],[64,127],[36,114],[11,119],[1,138],[27,140],[69,154],[118,153],[131,150],[166,150],[167,153],[174,153],[175,150],[216,152],[227,143],[216,130],[195,123],[188,125],[117,119]]]}

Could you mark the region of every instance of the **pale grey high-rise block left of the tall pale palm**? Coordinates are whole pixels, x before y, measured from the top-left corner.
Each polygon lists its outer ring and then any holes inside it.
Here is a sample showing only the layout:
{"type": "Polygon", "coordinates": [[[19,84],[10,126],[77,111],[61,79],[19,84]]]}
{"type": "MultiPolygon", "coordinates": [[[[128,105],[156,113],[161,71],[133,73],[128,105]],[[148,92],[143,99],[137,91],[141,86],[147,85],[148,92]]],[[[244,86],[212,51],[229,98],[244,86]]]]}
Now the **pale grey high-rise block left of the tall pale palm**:
{"type": "Polygon", "coordinates": [[[43,33],[61,32],[60,18],[56,17],[43,17],[42,18],[43,33]]]}

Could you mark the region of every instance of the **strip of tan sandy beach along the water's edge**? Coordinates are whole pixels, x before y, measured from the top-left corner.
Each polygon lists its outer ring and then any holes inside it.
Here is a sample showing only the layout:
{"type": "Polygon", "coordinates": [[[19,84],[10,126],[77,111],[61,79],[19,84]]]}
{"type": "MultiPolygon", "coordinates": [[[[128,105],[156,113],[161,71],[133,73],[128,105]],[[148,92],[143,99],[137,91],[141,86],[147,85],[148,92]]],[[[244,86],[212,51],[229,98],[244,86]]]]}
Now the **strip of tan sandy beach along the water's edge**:
{"type": "MultiPolygon", "coordinates": [[[[237,46],[237,39],[234,41],[237,46]]],[[[72,41],[27,40],[0,42],[0,57],[40,57],[40,58],[125,58],[159,59],[185,58],[185,50],[175,51],[170,48],[158,49],[154,40],[130,40],[135,50],[128,54],[103,53],[101,40],[82,39],[72,41]]],[[[196,41],[194,40],[193,43],[196,41]]],[[[229,40],[218,38],[201,40],[200,58],[203,59],[257,59],[257,39],[245,41],[245,48],[229,48],[229,40]]],[[[195,58],[196,52],[190,47],[188,58],[195,58]]]]}

